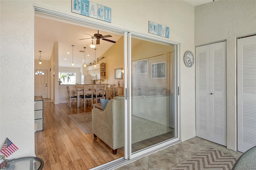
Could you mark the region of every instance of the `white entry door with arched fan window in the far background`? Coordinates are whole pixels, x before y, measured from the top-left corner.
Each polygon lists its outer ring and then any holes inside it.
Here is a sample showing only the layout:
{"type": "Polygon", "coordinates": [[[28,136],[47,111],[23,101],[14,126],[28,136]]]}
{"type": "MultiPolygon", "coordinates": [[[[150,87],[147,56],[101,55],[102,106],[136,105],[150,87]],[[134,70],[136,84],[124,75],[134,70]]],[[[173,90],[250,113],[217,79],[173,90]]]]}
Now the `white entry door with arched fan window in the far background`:
{"type": "Polygon", "coordinates": [[[48,98],[47,70],[35,70],[35,96],[48,98]]]}

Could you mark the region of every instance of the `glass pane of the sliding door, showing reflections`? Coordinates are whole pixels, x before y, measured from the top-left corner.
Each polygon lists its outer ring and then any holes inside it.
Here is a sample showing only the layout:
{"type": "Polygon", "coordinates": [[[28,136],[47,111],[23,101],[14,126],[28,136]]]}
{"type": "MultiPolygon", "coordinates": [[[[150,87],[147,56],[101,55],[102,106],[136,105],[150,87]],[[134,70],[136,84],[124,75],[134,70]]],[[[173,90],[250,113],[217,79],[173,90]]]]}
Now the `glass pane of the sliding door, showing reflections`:
{"type": "Polygon", "coordinates": [[[177,137],[175,45],[131,38],[131,152],[177,137]]]}

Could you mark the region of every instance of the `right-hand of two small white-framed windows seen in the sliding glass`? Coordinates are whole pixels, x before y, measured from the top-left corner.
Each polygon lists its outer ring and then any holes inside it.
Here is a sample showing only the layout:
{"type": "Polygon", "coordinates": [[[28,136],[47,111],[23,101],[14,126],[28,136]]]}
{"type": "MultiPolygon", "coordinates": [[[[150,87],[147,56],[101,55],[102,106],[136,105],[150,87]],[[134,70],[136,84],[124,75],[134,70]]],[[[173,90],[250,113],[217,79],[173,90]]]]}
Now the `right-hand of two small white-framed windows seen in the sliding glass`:
{"type": "Polygon", "coordinates": [[[151,64],[151,78],[166,78],[166,62],[151,64]]]}

